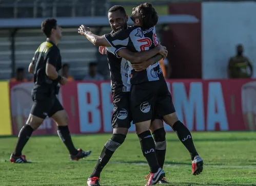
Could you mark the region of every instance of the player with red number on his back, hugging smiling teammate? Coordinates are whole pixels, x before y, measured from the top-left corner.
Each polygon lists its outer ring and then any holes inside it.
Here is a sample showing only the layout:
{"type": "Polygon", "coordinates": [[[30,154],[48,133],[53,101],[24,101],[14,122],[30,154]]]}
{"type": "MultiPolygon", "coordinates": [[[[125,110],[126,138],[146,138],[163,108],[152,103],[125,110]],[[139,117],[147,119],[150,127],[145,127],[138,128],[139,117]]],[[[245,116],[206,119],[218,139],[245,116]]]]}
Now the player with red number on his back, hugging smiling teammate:
{"type": "MultiPolygon", "coordinates": [[[[97,36],[92,34],[87,27],[84,27],[85,35],[95,45],[114,47],[117,54],[124,47],[131,51],[153,49],[158,43],[154,28],[158,21],[155,9],[149,3],[139,5],[133,8],[131,19],[134,22],[134,26],[126,30],[106,34],[105,36],[97,36]]],[[[153,111],[163,115],[164,121],[172,127],[190,153],[192,174],[200,174],[203,171],[203,160],[194,147],[190,131],[179,121],[176,115],[159,63],[155,63],[141,72],[136,72],[132,69],[128,77],[128,82],[132,84],[130,91],[132,119],[139,136],[145,137],[149,134],[148,128],[153,111]],[[154,88],[152,89],[152,87],[154,88]]],[[[152,140],[147,139],[147,145],[145,146],[152,147],[152,143],[152,140]]],[[[151,166],[153,165],[151,164],[151,166]]],[[[149,181],[153,180],[151,179],[153,176],[154,174],[150,175],[149,181]]]]}

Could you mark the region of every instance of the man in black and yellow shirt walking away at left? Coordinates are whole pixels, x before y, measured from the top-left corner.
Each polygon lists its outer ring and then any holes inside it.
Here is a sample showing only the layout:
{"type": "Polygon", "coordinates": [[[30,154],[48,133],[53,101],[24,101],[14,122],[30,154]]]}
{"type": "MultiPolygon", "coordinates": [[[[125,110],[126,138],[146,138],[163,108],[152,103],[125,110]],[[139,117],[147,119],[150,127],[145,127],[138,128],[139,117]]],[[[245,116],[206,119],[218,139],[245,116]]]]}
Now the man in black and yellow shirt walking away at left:
{"type": "Polygon", "coordinates": [[[62,36],[62,28],[57,25],[56,19],[46,19],[42,23],[42,31],[47,39],[35,51],[29,65],[29,73],[34,74],[33,105],[26,125],[19,131],[16,147],[11,154],[10,161],[13,163],[28,162],[26,156],[22,155],[22,150],[33,131],[42,124],[47,115],[55,121],[58,136],[66,145],[71,160],[87,157],[91,153],[75,149],[68,128],[68,114],[56,97],[60,90],[59,84],[67,83],[65,77],[58,75],[62,68],[62,59],[57,44],[62,36]]]}

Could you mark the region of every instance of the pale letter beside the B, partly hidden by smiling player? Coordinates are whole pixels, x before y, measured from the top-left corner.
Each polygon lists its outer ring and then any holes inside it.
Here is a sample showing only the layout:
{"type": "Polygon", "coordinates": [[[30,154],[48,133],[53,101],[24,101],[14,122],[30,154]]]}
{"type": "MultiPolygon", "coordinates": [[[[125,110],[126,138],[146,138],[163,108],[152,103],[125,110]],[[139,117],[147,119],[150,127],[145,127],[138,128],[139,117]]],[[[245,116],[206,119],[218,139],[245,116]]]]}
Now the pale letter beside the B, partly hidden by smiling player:
{"type": "Polygon", "coordinates": [[[112,113],[113,104],[111,102],[111,85],[110,83],[101,83],[101,97],[102,97],[102,114],[104,132],[112,132],[112,113]]]}

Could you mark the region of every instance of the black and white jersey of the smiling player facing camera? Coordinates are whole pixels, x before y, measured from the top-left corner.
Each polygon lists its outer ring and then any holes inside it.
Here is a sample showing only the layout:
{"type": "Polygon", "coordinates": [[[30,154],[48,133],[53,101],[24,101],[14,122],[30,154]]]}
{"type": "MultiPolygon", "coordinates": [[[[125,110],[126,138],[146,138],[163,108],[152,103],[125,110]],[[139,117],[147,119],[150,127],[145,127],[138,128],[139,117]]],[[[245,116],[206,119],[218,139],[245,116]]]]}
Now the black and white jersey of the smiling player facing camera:
{"type": "Polygon", "coordinates": [[[128,84],[128,69],[129,64],[126,59],[116,57],[115,48],[106,47],[108,64],[111,78],[112,94],[130,91],[131,85],[128,84]]]}

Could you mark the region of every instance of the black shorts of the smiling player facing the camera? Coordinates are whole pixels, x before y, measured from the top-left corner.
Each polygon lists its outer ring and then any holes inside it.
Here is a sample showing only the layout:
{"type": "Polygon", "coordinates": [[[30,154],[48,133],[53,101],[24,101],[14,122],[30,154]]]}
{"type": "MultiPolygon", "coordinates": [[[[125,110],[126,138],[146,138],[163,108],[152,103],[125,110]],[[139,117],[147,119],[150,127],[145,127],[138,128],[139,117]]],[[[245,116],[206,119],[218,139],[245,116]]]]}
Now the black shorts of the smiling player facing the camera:
{"type": "Polygon", "coordinates": [[[113,96],[114,111],[112,115],[113,128],[130,128],[130,92],[122,92],[113,96]]]}

